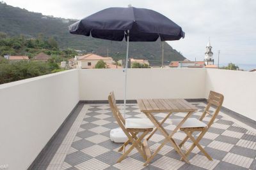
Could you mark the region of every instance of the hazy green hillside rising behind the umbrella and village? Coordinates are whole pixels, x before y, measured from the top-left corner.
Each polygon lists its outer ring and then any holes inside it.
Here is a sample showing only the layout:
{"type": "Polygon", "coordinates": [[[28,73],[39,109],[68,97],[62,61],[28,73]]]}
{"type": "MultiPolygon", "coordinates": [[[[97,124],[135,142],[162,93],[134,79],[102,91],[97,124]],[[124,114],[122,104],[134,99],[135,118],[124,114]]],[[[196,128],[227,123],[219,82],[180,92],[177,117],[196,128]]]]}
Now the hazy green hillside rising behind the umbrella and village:
{"type": "MultiPolygon", "coordinates": [[[[102,39],[88,38],[86,36],[72,35],[68,32],[68,25],[76,20],[54,18],[44,16],[42,13],[34,13],[25,9],[0,3],[0,32],[6,32],[9,36],[23,34],[27,38],[36,38],[42,33],[46,37],[52,36],[58,41],[61,49],[73,48],[95,52],[99,55],[124,59],[126,52],[125,41],[107,41],[102,39]]],[[[148,59],[150,64],[161,63],[161,41],[156,42],[132,42],[129,57],[135,59],[148,59]]],[[[164,60],[184,60],[179,52],[174,50],[168,43],[164,43],[164,60]]]]}

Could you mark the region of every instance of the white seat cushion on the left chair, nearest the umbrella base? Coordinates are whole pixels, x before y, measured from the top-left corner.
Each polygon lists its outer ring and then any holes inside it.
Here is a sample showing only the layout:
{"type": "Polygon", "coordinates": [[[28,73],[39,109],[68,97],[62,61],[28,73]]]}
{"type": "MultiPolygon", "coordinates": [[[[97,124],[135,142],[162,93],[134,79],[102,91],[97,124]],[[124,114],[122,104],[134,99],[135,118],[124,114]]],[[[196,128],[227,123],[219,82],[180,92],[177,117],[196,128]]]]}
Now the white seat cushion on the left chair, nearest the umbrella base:
{"type": "Polygon", "coordinates": [[[155,125],[148,118],[127,118],[125,119],[125,128],[127,129],[148,129],[155,125]]]}

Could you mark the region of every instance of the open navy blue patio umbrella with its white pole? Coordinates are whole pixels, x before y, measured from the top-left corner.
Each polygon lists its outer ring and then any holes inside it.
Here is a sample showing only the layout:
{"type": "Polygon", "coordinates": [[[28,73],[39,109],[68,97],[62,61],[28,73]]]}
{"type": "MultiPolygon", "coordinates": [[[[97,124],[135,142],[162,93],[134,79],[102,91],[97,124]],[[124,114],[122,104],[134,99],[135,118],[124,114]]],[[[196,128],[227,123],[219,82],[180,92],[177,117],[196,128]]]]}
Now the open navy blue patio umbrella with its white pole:
{"type": "Polygon", "coordinates": [[[184,38],[182,28],[172,20],[145,8],[107,8],[69,26],[71,34],[112,41],[127,41],[125,62],[124,116],[129,41],[173,41],[184,38]]]}

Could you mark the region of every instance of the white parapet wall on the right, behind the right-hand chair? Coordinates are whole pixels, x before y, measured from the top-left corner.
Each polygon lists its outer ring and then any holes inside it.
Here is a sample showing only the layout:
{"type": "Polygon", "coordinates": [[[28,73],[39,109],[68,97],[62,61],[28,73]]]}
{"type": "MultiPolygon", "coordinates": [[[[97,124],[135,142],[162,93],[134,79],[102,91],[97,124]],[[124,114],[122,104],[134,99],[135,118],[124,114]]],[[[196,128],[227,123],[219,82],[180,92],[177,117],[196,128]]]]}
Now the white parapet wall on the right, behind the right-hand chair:
{"type": "Polygon", "coordinates": [[[256,121],[256,73],[207,69],[205,98],[210,90],[223,94],[223,106],[256,121]]]}

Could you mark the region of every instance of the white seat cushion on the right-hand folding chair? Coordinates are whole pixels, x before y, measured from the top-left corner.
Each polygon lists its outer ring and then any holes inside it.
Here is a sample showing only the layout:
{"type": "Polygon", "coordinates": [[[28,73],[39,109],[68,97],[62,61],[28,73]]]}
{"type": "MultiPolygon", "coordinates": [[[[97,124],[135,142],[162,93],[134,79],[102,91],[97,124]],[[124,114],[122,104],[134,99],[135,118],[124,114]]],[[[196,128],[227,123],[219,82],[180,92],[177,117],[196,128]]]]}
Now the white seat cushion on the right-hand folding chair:
{"type": "MultiPolygon", "coordinates": [[[[173,118],[172,123],[174,125],[178,125],[183,119],[182,118],[173,118]]],[[[189,128],[189,127],[207,127],[207,124],[196,119],[196,118],[188,118],[186,122],[181,126],[181,128],[189,128]]]]}

